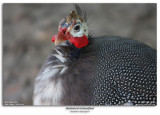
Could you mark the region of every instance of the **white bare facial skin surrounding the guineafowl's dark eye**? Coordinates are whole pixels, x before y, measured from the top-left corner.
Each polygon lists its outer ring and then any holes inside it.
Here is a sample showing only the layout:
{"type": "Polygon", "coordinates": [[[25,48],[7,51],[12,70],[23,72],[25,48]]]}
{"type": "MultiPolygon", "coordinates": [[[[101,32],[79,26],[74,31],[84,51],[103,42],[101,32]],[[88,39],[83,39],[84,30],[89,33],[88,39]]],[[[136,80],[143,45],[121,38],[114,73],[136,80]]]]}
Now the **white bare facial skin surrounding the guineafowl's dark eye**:
{"type": "Polygon", "coordinates": [[[73,26],[73,28],[70,31],[70,34],[73,37],[82,37],[83,35],[88,36],[88,27],[85,22],[81,23],[81,21],[78,19],[76,20],[76,24],[73,26]]]}

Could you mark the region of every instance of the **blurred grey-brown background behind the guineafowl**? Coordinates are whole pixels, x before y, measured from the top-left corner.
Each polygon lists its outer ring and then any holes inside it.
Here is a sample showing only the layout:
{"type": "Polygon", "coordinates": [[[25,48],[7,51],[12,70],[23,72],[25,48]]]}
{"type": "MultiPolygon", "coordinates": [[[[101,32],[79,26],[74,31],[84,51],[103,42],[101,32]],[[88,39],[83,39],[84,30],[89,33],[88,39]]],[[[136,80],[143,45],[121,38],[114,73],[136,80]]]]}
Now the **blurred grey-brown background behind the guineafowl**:
{"type": "MultiPolygon", "coordinates": [[[[79,4],[93,35],[157,47],[156,4],[79,4]]],[[[54,47],[58,24],[74,4],[3,4],[3,104],[32,105],[34,79],[54,47]]]]}

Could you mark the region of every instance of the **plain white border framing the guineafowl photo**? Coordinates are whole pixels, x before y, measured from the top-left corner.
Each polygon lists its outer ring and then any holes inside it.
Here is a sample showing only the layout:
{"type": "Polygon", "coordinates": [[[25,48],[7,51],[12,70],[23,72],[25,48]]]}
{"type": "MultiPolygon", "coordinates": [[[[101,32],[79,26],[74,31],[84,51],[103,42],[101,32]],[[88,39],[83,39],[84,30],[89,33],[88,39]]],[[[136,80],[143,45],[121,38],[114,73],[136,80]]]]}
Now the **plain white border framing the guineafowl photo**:
{"type": "MultiPolygon", "coordinates": [[[[67,2],[64,0],[58,0],[58,3],[157,3],[157,106],[153,106],[153,107],[95,107],[94,110],[91,110],[89,112],[89,114],[106,114],[106,115],[157,115],[158,113],[160,113],[160,96],[159,96],[159,0],[68,0],[67,2]]],[[[1,50],[0,50],[0,75],[2,75],[2,5],[3,3],[54,3],[53,0],[32,0],[32,1],[28,1],[28,0],[1,0],[1,8],[0,8],[0,27],[1,27],[1,31],[0,31],[0,36],[1,36],[1,40],[0,40],[0,44],[1,44],[1,50]]],[[[0,79],[0,92],[2,93],[2,77],[0,79]]],[[[0,112],[1,115],[5,114],[5,115],[29,115],[29,114],[33,114],[33,115],[56,115],[56,114],[73,114],[70,111],[66,110],[66,107],[62,106],[62,107],[35,107],[35,106],[16,106],[16,107],[8,107],[8,106],[2,106],[2,94],[0,94],[0,103],[1,103],[1,107],[0,107],[0,112]]],[[[80,114],[80,113],[78,113],[80,114]]],[[[88,113],[87,113],[88,114],[88,113]]]]}

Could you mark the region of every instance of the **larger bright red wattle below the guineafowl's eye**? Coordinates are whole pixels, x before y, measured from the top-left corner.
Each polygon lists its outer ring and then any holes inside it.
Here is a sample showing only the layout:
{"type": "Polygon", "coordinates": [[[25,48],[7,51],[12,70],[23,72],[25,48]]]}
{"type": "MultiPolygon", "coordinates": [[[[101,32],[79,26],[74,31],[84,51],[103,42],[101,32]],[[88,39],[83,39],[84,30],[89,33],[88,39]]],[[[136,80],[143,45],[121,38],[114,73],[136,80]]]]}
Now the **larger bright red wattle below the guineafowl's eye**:
{"type": "Polygon", "coordinates": [[[86,46],[89,41],[86,35],[82,36],[82,37],[70,37],[69,38],[70,42],[73,43],[77,48],[82,48],[84,46],[86,46]]]}

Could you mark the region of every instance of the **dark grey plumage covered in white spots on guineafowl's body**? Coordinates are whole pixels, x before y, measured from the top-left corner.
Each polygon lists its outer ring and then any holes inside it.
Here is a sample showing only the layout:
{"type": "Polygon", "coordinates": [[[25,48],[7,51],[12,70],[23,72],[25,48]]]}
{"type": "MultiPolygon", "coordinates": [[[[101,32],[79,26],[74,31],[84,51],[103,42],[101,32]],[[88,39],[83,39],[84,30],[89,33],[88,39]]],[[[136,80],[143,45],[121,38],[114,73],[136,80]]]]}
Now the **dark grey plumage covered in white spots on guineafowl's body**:
{"type": "Polygon", "coordinates": [[[156,51],[120,37],[94,39],[94,105],[156,105],[156,51]]]}

